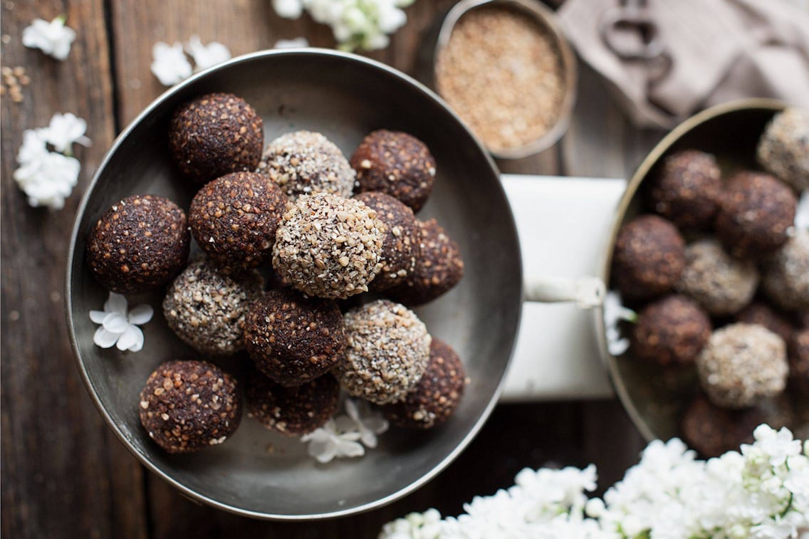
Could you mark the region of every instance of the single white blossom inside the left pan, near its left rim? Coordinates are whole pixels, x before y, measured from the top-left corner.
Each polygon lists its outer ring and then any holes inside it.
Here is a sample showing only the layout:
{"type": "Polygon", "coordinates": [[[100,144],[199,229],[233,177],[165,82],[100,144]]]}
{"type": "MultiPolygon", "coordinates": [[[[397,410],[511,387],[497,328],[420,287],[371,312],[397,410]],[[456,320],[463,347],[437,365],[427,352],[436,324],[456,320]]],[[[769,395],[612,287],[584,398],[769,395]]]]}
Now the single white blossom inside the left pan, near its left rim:
{"type": "Polygon", "coordinates": [[[101,348],[116,346],[118,350],[138,352],[143,348],[143,332],[138,325],[146,324],[153,313],[151,306],[146,304],[128,311],[126,298],[110,292],[104,311],[90,312],[90,320],[101,325],[95,330],[93,342],[101,348]]]}

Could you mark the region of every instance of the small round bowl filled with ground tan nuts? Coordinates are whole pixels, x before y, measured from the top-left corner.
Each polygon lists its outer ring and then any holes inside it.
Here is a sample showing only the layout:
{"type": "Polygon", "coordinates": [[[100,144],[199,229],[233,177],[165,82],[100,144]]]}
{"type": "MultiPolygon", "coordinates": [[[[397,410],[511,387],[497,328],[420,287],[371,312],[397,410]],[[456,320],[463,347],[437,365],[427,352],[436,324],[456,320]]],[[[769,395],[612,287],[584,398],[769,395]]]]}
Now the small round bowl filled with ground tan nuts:
{"type": "Polygon", "coordinates": [[[489,152],[522,159],[567,130],[576,63],[540,2],[461,0],[434,49],[432,83],[489,152]]]}

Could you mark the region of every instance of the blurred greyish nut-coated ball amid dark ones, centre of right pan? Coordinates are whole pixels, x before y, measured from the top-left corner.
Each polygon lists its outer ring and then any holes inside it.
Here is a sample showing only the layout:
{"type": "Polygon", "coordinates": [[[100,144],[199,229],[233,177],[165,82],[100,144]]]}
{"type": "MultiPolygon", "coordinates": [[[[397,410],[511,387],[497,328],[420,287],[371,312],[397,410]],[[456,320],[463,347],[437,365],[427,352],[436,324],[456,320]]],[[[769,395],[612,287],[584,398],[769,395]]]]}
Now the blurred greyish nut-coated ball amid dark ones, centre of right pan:
{"type": "Polygon", "coordinates": [[[750,303],[758,282],[752,261],[731,257],[716,240],[699,240],[685,248],[677,290],[696,299],[710,314],[723,316],[750,303]]]}

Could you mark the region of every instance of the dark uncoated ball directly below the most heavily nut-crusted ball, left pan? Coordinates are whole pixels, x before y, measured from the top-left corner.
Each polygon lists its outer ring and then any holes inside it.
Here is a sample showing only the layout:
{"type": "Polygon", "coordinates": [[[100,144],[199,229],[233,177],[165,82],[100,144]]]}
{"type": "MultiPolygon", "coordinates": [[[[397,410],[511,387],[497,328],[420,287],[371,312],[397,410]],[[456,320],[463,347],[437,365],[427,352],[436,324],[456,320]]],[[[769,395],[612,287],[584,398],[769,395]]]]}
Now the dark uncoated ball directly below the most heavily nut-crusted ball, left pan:
{"type": "Polygon", "coordinates": [[[252,304],[244,342],[256,367],[286,387],[314,380],[345,350],[343,316],[331,299],[279,288],[252,304]]]}

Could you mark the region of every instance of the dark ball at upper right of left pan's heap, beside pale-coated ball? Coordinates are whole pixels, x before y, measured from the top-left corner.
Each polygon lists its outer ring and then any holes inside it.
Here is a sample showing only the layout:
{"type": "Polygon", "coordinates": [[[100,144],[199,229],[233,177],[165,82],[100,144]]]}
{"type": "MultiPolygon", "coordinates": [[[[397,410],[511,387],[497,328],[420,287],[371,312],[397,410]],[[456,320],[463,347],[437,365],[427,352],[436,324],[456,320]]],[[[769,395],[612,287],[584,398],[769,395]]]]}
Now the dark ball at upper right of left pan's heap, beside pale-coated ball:
{"type": "Polygon", "coordinates": [[[361,193],[380,191],[421,210],[433,190],[435,159],[424,142],[379,129],[362,139],[350,159],[361,193]]]}

